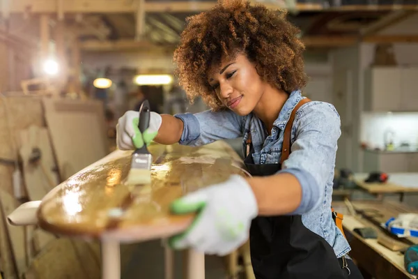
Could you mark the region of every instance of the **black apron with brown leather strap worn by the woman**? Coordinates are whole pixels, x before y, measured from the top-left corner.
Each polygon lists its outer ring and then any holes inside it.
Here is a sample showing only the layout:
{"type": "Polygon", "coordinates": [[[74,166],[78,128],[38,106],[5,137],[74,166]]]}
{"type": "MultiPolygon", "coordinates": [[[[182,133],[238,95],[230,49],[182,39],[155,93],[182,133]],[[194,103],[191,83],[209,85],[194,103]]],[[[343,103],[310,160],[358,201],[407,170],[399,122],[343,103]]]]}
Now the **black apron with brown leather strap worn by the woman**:
{"type": "MultiPolygon", "coordinates": [[[[309,101],[302,100],[293,110],[286,125],[281,163],[290,153],[290,131],[294,114],[303,103],[309,101]]],[[[249,143],[251,144],[251,137],[247,141],[249,143]]],[[[281,169],[281,163],[255,165],[253,153],[251,144],[244,163],[252,176],[269,176],[281,169]]],[[[251,223],[249,244],[256,279],[347,278],[330,244],[307,229],[300,215],[256,217],[251,223]]]]}

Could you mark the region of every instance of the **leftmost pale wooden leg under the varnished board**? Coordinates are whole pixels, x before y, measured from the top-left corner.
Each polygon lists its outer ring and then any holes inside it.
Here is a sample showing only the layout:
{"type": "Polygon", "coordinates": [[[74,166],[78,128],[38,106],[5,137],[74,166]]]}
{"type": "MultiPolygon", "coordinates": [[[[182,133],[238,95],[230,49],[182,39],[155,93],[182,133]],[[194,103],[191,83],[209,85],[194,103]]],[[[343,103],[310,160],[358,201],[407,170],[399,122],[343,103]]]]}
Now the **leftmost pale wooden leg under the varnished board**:
{"type": "Polygon", "coordinates": [[[118,241],[102,241],[102,279],[121,278],[121,247],[118,241]]]}

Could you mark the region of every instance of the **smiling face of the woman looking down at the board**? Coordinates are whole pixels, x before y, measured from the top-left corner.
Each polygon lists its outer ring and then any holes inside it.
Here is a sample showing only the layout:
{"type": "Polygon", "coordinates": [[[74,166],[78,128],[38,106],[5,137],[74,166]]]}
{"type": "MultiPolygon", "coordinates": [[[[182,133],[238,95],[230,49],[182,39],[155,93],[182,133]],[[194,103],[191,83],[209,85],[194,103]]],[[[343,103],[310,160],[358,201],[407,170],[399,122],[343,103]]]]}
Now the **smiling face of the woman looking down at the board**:
{"type": "Polygon", "coordinates": [[[256,66],[245,54],[221,61],[209,71],[208,82],[221,102],[240,116],[254,110],[265,89],[256,66]]]}

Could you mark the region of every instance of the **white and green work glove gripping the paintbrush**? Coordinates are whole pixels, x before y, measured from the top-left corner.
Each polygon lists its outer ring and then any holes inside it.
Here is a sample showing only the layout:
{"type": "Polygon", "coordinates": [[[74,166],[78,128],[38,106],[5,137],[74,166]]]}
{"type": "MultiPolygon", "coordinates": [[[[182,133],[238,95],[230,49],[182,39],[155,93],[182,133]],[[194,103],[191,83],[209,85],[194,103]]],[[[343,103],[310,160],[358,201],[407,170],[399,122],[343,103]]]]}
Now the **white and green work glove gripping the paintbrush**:
{"type": "Polygon", "coordinates": [[[133,150],[139,149],[150,144],[157,136],[158,129],[160,129],[162,118],[157,112],[150,112],[150,125],[141,134],[138,128],[139,112],[133,110],[125,112],[123,116],[118,119],[116,125],[116,144],[118,149],[133,150]]]}

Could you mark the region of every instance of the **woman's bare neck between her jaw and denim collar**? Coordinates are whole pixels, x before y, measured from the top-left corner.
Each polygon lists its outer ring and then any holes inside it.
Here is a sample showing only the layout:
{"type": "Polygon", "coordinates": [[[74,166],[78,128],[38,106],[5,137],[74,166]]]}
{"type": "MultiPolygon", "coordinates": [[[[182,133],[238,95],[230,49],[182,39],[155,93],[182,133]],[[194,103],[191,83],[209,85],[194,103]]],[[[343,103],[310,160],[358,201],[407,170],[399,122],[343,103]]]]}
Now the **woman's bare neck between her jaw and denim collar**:
{"type": "Polygon", "coordinates": [[[288,93],[268,85],[254,108],[254,113],[263,121],[269,135],[271,134],[273,123],[279,116],[281,108],[287,99],[288,93]]]}

